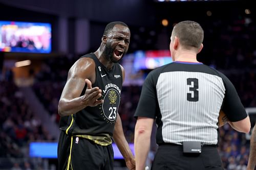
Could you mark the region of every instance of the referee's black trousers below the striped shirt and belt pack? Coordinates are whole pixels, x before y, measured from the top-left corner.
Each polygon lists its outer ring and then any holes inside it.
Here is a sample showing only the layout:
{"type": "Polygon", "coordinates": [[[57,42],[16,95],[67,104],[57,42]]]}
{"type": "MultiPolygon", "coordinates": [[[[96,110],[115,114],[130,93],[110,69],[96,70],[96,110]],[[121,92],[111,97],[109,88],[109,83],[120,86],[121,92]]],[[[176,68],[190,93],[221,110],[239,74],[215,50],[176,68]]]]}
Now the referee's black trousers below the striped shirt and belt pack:
{"type": "Polygon", "coordinates": [[[201,154],[183,154],[182,145],[159,145],[152,164],[153,170],[223,170],[217,146],[202,146],[201,154]]]}

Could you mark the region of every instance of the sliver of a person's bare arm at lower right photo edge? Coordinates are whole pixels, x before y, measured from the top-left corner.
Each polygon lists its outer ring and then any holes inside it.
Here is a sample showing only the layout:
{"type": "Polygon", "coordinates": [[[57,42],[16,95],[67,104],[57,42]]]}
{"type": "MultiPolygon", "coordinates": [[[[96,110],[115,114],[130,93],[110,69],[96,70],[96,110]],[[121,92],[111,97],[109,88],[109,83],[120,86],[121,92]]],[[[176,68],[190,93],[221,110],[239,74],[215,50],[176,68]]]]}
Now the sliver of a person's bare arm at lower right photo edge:
{"type": "Polygon", "coordinates": [[[251,133],[250,155],[247,170],[254,170],[256,167],[256,124],[251,133]]]}

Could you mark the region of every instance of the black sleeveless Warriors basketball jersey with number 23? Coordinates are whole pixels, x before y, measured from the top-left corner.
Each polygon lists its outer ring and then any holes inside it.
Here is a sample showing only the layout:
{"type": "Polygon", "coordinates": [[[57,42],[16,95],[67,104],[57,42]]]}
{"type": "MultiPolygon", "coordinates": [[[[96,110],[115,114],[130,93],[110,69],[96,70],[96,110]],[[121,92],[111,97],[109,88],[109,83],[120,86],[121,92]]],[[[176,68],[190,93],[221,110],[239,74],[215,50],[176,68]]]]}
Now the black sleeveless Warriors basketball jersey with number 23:
{"type": "MultiPolygon", "coordinates": [[[[92,58],[95,62],[96,80],[92,87],[99,87],[102,90],[103,103],[95,107],[88,106],[73,115],[61,117],[60,129],[69,135],[101,136],[108,134],[113,136],[122,89],[121,67],[115,63],[109,71],[94,53],[82,57],[92,58]]],[[[81,95],[84,94],[86,88],[87,86],[84,87],[81,95]]]]}

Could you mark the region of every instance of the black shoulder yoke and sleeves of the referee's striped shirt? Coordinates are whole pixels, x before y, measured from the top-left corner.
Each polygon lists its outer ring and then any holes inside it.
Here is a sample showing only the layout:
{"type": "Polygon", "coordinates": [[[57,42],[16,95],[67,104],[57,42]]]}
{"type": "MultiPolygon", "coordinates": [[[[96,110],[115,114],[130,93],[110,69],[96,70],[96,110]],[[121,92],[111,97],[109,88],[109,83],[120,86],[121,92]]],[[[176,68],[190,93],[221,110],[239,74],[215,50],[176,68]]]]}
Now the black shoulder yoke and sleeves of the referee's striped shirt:
{"type": "Polygon", "coordinates": [[[168,71],[189,71],[189,72],[204,72],[205,74],[210,75],[216,75],[223,80],[223,84],[225,86],[225,98],[223,102],[223,108],[222,110],[227,115],[228,119],[231,122],[237,122],[238,120],[242,120],[247,116],[247,113],[241,103],[241,100],[239,99],[238,93],[236,89],[234,88],[233,84],[230,82],[230,80],[223,75],[218,70],[211,68],[204,64],[187,64],[187,63],[179,63],[179,62],[173,62],[170,64],[166,64],[164,66],[158,67],[155,70],[151,71],[150,74],[148,74],[147,78],[145,79],[142,87],[142,94],[143,99],[150,99],[150,100],[143,100],[143,103],[141,100],[139,101],[139,104],[134,117],[137,118],[138,116],[142,117],[149,117],[149,118],[156,118],[160,115],[160,112],[155,112],[155,114],[148,114],[152,113],[152,111],[159,111],[159,106],[157,104],[157,99],[152,100],[154,96],[156,96],[156,84],[157,80],[159,78],[159,75],[163,72],[168,71]],[[154,87],[154,89],[153,89],[154,87]],[[156,101],[156,102],[151,102],[156,101]],[[151,106],[151,107],[147,107],[151,106]]]}

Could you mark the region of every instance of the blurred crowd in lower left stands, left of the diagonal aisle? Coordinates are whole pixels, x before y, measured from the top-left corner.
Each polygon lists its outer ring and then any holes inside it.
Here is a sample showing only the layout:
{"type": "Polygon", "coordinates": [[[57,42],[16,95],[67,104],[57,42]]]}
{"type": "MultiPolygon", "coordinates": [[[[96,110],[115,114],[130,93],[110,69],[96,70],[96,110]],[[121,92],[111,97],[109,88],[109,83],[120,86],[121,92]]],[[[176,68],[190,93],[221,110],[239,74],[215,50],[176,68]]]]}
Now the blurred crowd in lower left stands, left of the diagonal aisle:
{"type": "Polygon", "coordinates": [[[53,139],[12,79],[0,81],[0,108],[0,168],[38,168],[38,160],[28,158],[29,142],[53,139]]]}

